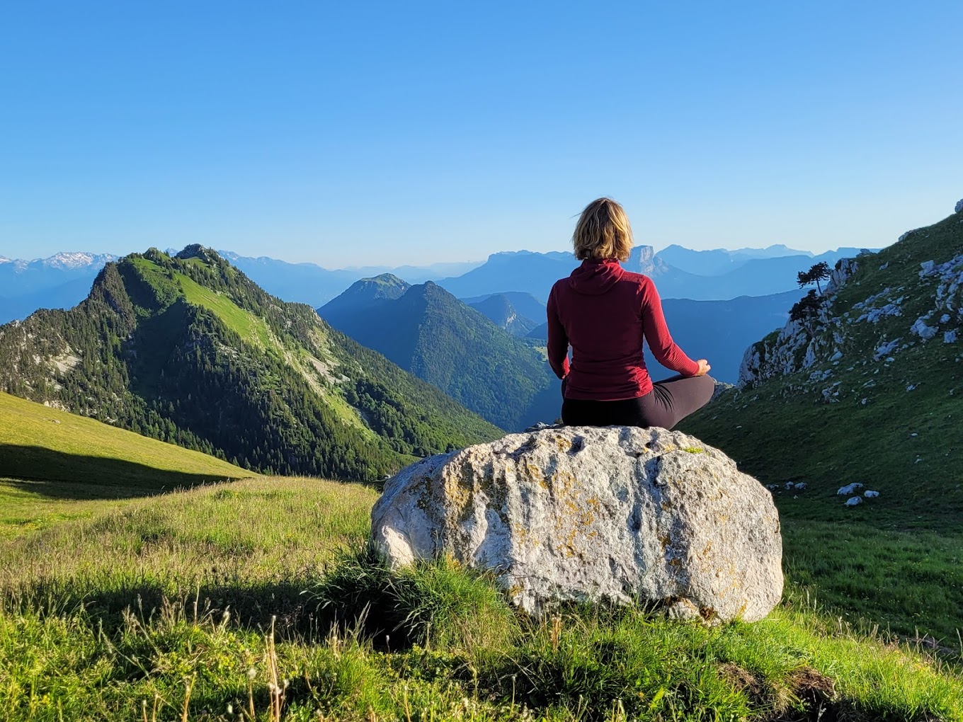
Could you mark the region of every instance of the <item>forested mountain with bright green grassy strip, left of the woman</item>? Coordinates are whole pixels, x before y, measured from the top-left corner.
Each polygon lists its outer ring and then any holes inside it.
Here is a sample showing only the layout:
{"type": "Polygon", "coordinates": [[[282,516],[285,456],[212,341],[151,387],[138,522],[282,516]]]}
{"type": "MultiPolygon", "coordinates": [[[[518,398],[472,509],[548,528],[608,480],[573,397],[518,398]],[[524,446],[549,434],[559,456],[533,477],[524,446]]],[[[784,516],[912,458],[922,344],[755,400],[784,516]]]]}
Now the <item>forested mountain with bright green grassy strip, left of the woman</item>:
{"type": "Polygon", "coordinates": [[[370,479],[499,434],[199,245],[0,326],[0,390],[284,474],[370,479]]]}

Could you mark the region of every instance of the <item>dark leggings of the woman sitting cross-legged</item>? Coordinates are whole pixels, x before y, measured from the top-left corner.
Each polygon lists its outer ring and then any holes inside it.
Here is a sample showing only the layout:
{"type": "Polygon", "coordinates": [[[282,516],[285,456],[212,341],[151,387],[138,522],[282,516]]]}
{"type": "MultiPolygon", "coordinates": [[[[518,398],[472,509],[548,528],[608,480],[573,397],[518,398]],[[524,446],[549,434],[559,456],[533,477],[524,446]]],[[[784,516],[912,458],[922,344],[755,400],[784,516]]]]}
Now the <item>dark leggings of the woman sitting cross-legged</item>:
{"type": "MultiPolygon", "coordinates": [[[[716,380],[709,375],[672,376],[652,384],[638,399],[591,401],[565,399],[561,422],[567,426],[662,426],[672,428],[713,398],[716,380]]],[[[562,386],[564,394],[564,386],[562,386]]]]}

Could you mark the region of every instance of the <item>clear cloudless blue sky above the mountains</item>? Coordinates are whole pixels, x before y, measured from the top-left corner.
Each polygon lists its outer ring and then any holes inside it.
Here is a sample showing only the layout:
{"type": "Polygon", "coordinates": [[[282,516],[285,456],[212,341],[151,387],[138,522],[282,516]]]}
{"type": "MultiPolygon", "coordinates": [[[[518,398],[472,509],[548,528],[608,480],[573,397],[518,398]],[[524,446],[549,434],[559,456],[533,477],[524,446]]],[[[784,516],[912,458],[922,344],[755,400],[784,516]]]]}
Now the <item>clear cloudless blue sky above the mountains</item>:
{"type": "Polygon", "coordinates": [[[0,255],[893,243],[963,197],[963,3],[21,2],[0,255]]]}

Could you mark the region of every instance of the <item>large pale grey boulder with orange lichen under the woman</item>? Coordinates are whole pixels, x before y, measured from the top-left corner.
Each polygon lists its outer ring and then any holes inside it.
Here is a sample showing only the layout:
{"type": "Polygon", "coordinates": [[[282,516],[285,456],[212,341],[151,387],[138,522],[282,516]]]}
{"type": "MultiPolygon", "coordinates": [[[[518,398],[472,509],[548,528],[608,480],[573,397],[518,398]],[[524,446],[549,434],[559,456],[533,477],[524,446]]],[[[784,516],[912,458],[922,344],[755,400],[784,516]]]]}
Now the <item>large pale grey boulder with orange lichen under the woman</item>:
{"type": "Polygon", "coordinates": [[[386,482],[372,533],[396,567],[449,555],[492,570],[536,615],[609,599],[751,622],[782,596],[770,492],[664,428],[562,426],[431,456],[386,482]]]}

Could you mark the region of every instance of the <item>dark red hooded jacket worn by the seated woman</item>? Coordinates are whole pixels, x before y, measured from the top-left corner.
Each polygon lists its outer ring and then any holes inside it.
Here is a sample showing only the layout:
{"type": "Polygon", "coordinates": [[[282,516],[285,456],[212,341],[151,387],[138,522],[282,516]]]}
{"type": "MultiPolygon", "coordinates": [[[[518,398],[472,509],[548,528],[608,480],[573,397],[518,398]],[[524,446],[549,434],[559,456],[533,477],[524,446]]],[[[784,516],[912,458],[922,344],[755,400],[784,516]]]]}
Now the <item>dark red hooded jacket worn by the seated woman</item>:
{"type": "Polygon", "coordinates": [[[615,259],[583,261],[556,281],[547,312],[548,361],[566,379],[566,399],[637,399],[652,391],[642,358],[643,336],[667,369],[684,376],[699,371],[672,341],[655,283],[625,271],[615,259]]]}

